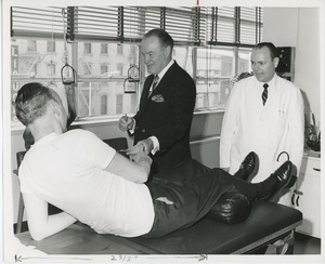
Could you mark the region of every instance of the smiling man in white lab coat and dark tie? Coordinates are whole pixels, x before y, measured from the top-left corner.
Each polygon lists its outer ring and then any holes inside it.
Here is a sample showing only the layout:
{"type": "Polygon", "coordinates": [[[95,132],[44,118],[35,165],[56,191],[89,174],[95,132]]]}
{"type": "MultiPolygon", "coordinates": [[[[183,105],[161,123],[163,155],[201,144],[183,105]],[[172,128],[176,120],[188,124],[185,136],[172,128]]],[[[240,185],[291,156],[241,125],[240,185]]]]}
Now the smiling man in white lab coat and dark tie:
{"type": "MultiPolygon", "coordinates": [[[[276,75],[280,58],[273,43],[257,44],[250,60],[253,76],[235,83],[225,108],[220,167],[233,174],[246,155],[255,151],[259,171],[251,182],[260,182],[288,157],[299,171],[304,143],[303,98],[299,88],[276,75]]],[[[281,203],[287,202],[288,195],[281,203]]]]}

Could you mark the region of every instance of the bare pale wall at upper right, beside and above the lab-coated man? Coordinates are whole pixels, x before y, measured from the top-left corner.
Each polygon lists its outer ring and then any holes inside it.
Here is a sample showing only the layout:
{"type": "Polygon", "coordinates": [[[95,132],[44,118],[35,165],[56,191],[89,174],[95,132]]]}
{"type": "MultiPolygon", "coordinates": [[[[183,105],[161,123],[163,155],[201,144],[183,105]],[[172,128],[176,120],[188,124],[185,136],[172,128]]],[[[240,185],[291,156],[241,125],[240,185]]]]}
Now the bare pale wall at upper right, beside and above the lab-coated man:
{"type": "Polygon", "coordinates": [[[318,8],[265,8],[263,41],[295,47],[295,84],[302,91],[307,118],[321,120],[321,56],[318,8]]]}

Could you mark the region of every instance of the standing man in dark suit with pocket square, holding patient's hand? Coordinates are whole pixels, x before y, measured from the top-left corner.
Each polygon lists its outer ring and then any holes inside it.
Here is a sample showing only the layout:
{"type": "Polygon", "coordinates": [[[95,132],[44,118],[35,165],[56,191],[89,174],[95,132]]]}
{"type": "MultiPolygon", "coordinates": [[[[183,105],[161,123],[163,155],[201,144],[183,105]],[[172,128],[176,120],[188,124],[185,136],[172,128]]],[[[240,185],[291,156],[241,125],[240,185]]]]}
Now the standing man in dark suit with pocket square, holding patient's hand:
{"type": "Polygon", "coordinates": [[[152,155],[151,174],[169,170],[191,158],[190,130],[196,98],[192,77],[172,60],[173,39],[162,29],[144,35],[141,52],[146,78],[136,115],[123,116],[119,128],[134,134],[132,155],[152,155]]]}

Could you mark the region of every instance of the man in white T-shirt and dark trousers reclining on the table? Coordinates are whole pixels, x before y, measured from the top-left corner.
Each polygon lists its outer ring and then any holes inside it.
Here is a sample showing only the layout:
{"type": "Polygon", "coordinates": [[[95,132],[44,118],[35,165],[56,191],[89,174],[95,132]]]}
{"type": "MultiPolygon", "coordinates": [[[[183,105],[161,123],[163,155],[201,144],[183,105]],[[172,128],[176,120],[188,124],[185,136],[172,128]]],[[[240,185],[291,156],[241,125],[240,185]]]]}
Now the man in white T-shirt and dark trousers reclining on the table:
{"type": "Polygon", "coordinates": [[[234,176],[211,169],[186,179],[147,181],[152,160],[142,149],[129,160],[89,131],[66,132],[66,111],[53,90],[27,83],[15,108],[35,137],[20,168],[35,240],[77,220],[99,234],[147,238],[188,227],[206,215],[238,223],[249,215],[252,201],[268,200],[296,181],[294,164],[286,161],[265,181],[247,183],[243,179],[255,169],[252,153],[234,176]],[[49,215],[48,203],[63,212],[49,215]]]}

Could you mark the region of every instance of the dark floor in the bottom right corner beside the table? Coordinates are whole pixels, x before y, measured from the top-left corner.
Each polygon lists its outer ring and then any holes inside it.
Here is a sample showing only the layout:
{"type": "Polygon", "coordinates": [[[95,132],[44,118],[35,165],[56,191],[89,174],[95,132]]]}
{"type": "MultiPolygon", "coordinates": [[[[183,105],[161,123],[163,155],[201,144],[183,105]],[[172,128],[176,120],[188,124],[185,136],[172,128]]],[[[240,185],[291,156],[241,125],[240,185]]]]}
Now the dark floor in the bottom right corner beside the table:
{"type": "Polygon", "coordinates": [[[321,239],[296,233],[294,254],[321,254],[321,239]]]}

